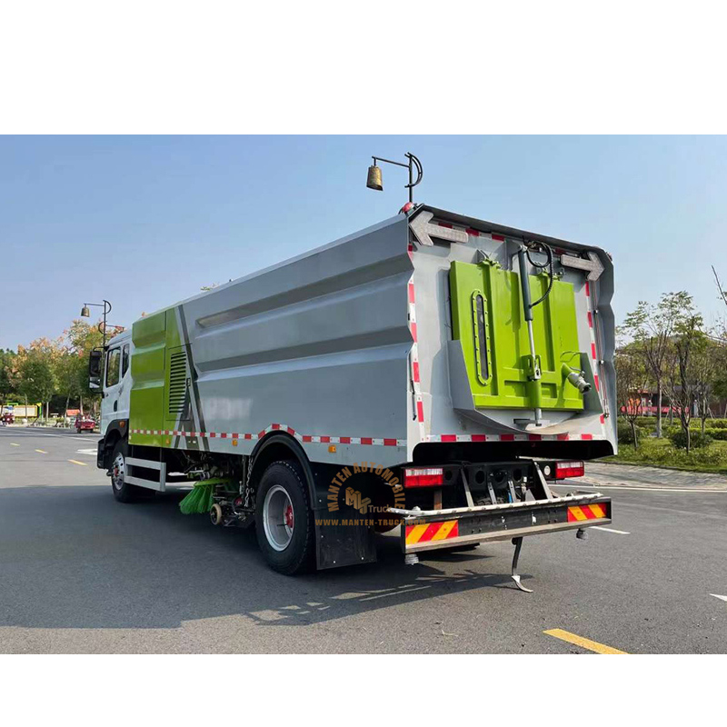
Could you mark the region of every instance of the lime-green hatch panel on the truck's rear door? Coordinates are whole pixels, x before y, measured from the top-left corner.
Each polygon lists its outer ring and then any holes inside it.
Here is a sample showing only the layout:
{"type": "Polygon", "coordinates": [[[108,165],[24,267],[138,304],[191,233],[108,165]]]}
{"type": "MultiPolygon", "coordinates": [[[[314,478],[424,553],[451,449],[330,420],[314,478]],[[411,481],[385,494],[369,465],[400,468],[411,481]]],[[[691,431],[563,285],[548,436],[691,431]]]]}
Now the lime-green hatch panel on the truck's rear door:
{"type": "MultiPolygon", "coordinates": [[[[545,293],[548,277],[528,277],[534,301],[545,293]]],[[[554,280],[551,293],[533,308],[540,382],[528,378],[532,361],[519,274],[496,264],[454,262],[450,289],[453,337],[462,342],[476,407],[583,409],[583,394],[566,381],[563,372],[563,364],[578,369],[581,361],[572,284],[554,280]],[[481,335],[477,335],[478,294],[483,297],[481,335]]]]}

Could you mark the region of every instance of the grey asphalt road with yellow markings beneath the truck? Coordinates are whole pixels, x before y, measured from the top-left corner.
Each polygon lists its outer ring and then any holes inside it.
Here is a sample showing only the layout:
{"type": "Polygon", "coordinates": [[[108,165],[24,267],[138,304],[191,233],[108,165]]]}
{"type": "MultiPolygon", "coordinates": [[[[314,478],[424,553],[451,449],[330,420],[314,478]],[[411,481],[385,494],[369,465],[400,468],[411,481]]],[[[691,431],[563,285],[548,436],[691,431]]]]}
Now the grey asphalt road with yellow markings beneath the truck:
{"type": "Polygon", "coordinates": [[[603,488],[622,533],[525,539],[532,594],[509,543],[287,578],[178,493],[116,503],[96,437],[0,428],[0,652],[727,652],[727,492],[603,488]]]}

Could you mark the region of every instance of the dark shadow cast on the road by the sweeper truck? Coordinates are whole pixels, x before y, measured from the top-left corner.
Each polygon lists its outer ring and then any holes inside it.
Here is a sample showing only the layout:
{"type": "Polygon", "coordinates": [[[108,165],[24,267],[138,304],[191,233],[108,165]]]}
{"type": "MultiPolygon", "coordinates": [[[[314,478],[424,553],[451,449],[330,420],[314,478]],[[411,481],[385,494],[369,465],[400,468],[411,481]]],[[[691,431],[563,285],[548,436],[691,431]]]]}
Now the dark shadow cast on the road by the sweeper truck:
{"type": "Polygon", "coordinates": [[[108,486],[0,490],[0,626],[174,629],[226,616],[307,625],[514,588],[502,550],[433,553],[407,566],[392,536],[380,539],[378,563],[286,577],[266,566],[253,531],[185,516],[182,496],[123,505],[108,486]]]}

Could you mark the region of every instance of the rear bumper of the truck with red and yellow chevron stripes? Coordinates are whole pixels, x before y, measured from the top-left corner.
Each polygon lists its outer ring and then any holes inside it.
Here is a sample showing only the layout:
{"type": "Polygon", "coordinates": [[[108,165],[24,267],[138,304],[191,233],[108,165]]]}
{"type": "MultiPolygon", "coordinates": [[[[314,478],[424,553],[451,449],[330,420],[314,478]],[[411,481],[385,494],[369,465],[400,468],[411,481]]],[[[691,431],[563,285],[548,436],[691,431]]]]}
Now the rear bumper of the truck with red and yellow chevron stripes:
{"type": "Polygon", "coordinates": [[[587,493],[524,503],[427,511],[393,508],[391,512],[403,515],[403,552],[421,553],[611,523],[611,498],[587,493]]]}

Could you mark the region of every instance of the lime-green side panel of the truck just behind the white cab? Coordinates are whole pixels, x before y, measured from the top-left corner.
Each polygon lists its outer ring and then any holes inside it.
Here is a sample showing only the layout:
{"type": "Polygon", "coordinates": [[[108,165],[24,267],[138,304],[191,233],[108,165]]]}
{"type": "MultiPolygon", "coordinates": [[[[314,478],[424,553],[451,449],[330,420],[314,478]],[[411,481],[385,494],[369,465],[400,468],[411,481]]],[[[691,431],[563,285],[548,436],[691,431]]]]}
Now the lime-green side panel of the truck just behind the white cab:
{"type": "MultiPolygon", "coordinates": [[[[186,346],[181,346],[175,309],[169,308],[140,318],[132,328],[132,340],[134,353],[131,373],[134,385],[129,402],[129,429],[150,432],[177,429],[179,418],[169,412],[170,357],[186,346]]],[[[170,445],[168,439],[159,433],[145,435],[143,441],[149,446],[164,447],[170,445]]]]}

